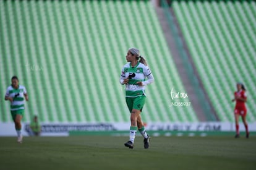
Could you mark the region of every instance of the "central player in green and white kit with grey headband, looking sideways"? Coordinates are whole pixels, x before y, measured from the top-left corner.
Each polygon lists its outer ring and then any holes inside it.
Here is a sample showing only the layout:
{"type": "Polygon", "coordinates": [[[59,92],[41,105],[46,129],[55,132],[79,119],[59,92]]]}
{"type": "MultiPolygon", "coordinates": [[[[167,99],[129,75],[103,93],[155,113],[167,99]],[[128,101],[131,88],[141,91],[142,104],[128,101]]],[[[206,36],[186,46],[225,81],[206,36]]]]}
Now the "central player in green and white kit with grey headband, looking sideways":
{"type": "Polygon", "coordinates": [[[143,126],[140,113],[146,99],[145,85],[152,83],[154,77],[147,66],[147,62],[140,56],[139,49],[129,48],[126,60],[127,64],[122,67],[120,83],[126,85],[126,104],[130,111],[130,140],[124,145],[128,148],[134,148],[134,138],[138,129],[144,137],[144,148],[148,148],[150,137],[143,126]],[[148,80],[145,80],[146,77],[148,80]]]}

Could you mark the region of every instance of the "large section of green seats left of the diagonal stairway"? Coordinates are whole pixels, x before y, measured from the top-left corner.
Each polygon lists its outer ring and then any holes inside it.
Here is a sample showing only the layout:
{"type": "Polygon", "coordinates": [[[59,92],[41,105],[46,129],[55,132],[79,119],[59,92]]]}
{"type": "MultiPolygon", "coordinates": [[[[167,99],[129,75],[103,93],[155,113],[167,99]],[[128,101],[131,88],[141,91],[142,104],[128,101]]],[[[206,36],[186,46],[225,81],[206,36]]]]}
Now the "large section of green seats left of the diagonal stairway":
{"type": "Polygon", "coordinates": [[[131,46],[155,76],[143,120],[198,121],[191,106],[170,106],[189,98],[171,99],[186,90],[150,1],[0,1],[0,38],[0,122],[11,122],[12,75],[30,97],[25,122],[129,122],[119,76],[131,46]]]}

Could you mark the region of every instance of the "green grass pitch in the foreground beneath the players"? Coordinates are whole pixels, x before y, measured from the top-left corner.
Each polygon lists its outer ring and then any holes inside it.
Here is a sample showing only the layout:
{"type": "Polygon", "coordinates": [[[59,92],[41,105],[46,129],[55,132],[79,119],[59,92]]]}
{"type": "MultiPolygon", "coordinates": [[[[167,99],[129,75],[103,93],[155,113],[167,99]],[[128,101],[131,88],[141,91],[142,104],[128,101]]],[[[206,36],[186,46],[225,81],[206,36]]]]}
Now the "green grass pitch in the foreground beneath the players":
{"type": "Polygon", "coordinates": [[[0,169],[255,169],[256,137],[0,137],[0,169]]]}

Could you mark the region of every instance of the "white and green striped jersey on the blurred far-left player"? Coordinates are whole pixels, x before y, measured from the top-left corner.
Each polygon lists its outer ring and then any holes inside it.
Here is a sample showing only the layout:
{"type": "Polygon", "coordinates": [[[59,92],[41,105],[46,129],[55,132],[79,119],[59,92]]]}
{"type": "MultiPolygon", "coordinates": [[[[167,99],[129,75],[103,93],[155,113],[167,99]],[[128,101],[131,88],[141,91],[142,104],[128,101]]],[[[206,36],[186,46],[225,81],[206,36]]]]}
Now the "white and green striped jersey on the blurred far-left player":
{"type": "Polygon", "coordinates": [[[24,94],[27,94],[27,90],[22,85],[19,85],[19,88],[15,89],[12,86],[9,86],[6,90],[6,97],[13,98],[11,103],[11,111],[17,111],[19,109],[24,109],[25,98],[24,94]]]}

